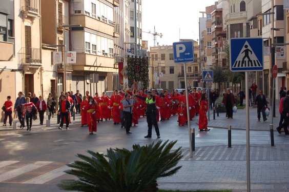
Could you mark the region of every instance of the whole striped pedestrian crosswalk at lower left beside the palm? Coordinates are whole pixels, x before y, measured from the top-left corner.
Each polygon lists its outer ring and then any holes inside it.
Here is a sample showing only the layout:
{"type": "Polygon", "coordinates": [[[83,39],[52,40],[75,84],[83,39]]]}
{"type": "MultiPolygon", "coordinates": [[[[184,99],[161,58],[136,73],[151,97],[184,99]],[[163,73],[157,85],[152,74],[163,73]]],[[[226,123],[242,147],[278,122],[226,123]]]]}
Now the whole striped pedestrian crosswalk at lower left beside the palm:
{"type": "Polygon", "coordinates": [[[66,163],[53,161],[0,161],[0,183],[51,184],[55,179],[59,183],[71,179],[64,172],[68,169],[66,163]]]}

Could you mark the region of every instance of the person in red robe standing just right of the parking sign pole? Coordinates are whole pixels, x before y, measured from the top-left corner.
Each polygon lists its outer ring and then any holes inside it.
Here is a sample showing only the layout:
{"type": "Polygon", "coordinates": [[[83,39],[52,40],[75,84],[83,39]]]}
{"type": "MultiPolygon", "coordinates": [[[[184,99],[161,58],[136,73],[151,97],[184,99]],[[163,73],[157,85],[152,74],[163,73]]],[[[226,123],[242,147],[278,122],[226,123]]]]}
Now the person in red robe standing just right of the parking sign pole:
{"type": "Polygon", "coordinates": [[[208,129],[208,118],[207,118],[207,111],[208,111],[208,102],[207,102],[208,94],[203,93],[200,99],[200,117],[199,117],[199,130],[200,131],[209,131],[208,129]]]}

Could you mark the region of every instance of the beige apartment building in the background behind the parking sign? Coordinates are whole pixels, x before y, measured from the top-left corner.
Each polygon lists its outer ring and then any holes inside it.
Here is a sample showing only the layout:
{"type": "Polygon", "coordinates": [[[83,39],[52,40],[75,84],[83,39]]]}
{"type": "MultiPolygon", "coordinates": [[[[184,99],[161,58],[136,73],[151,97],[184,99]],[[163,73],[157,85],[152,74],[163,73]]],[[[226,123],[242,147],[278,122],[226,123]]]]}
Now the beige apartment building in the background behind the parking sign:
{"type": "MultiPolygon", "coordinates": [[[[194,58],[196,62],[187,63],[187,80],[189,86],[198,86],[198,82],[200,82],[201,79],[199,73],[199,65],[197,63],[197,58],[199,56],[199,46],[198,42],[193,42],[194,58]]],[[[174,63],[174,53],[172,45],[150,47],[149,56],[150,88],[185,88],[183,65],[174,63]]]]}

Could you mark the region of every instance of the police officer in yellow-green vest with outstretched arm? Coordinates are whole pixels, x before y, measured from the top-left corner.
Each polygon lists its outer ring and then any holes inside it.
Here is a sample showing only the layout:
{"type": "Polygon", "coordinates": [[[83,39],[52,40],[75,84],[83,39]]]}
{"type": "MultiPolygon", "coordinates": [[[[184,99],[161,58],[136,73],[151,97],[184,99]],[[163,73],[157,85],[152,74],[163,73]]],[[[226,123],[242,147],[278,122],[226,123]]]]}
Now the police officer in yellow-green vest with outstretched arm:
{"type": "Polygon", "coordinates": [[[158,129],[157,121],[156,121],[156,99],[155,99],[155,95],[151,91],[148,91],[146,98],[145,97],[141,97],[140,95],[135,95],[135,97],[146,101],[146,104],[147,104],[146,115],[147,115],[147,122],[148,122],[149,129],[148,129],[148,135],[145,136],[144,138],[152,138],[152,127],[153,127],[153,125],[154,125],[155,130],[156,130],[157,138],[160,138],[159,129],[158,129]]]}

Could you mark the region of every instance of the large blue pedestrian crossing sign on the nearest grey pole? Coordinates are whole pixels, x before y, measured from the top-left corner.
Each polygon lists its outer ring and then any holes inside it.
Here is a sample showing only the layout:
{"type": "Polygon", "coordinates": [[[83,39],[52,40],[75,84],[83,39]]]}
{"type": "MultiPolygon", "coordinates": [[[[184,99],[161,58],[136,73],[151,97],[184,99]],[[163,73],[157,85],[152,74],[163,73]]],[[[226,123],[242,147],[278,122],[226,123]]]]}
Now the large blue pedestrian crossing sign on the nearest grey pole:
{"type": "Polygon", "coordinates": [[[230,43],[231,71],[262,71],[264,66],[262,38],[233,38],[230,43]]]}

